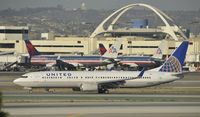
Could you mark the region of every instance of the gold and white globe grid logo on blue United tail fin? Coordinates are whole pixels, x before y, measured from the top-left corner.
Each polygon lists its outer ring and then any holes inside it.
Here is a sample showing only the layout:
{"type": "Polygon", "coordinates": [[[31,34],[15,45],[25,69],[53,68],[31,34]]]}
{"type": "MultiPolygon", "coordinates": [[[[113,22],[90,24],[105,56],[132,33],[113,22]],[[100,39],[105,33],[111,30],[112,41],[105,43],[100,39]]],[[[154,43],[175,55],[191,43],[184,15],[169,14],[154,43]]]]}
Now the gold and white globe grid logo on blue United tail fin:
{"type": "Polygon", "coordinates": [[[161,72],[181,72],[182,66],[179,62],[179,60],[171,56],[162,66],[160,69],[161,72]]]}

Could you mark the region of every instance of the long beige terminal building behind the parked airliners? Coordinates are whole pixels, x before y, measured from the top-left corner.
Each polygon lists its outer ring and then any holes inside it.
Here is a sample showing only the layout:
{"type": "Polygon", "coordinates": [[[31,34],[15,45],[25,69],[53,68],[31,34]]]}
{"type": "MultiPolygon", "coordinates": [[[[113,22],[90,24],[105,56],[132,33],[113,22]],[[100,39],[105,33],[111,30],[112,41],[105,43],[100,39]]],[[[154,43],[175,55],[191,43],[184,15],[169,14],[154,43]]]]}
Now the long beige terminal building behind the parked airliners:
{"type": "MultiPolygon", "coordinates": [[[[23,34],[21,34],[23,35],[23,34]]],[[[14,51],[16,55],[27,54],[24,39],[26,38],[4,38],[0,39],[0,51],[9,52],[14,51]]],[[[21,36],[24,37],[24,36],[21,36]]],[[[151,56],[158,48],[161,40],[154,38],[136,37],[136,36],[122,36],[117,37],[123,39],[120,54],[121,55],[144,55],[151,56]]],[[[55,37],[48,40],[31,40],[32,44],[42,54],[56,54],[56,55],[91,55],[98,54],[99,43],[104,44],[108,49],[116,40],[116,37],[55,37]]],[[[188,50],[188,61],[199,62],[200,39],[192,38],[189,40],[190,46],[188,50]]],[[[170,55],[173,50],[179,46],[181,41],[168,39],[165,41],[166,50],[163,51],[164,57],[170,55]]]]}

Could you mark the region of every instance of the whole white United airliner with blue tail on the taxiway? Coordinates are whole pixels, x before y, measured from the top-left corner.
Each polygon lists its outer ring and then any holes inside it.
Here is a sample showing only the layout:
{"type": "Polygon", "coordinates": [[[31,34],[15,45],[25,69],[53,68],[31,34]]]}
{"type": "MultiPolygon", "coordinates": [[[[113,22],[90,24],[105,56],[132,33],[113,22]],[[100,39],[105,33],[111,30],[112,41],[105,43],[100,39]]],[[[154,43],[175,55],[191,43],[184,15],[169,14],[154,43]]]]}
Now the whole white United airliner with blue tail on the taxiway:
{"type": "Polygon", "coordinates": [[[183,78],[182,66],[188,49],[183,41],[158,68],[147,71],[45,71],[24,74],[14,80],[17,85],[32,88],[73,88],[79,91],[108,93],[119,87],[149,87],[183,78]]]}

